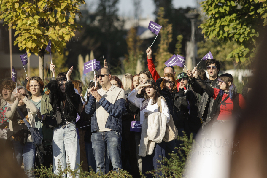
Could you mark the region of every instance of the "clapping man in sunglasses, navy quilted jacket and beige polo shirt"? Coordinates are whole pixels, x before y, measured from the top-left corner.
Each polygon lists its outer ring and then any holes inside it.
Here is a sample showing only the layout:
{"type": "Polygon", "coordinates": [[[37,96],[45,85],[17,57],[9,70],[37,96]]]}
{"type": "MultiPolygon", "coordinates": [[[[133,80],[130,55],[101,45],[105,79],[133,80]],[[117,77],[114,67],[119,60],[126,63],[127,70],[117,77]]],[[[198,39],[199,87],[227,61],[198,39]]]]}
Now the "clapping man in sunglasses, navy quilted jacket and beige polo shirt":
{"type": "Polygon", "coordinates": [[[96,172],[105,174],[105,156],[107,150],[113,171],[122,169],[122,115],[126,112],[124,90],[111,84],[111,73],[108,68],[98,70],[96,78],[102,86],[99,90],[93,87],[85,106],[85,112],[91,118],[92,147],[96,159],[96,172]]]}

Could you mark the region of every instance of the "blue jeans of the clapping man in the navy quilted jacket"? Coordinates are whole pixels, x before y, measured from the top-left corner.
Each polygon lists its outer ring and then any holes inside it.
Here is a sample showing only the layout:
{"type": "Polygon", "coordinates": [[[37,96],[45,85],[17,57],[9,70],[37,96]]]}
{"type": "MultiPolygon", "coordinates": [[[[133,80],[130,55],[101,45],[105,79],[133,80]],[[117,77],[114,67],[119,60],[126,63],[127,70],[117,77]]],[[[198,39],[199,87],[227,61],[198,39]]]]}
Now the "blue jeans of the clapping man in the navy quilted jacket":
{"type": "MultiPolygon", "coordinates": [[[[107,132],[93,132],[91,136],[92,147],[96,159],[96,172],[105,173],[105,161],[107,150],[113,166],[113,171],[122,169],[120,148],[121,148],[121,134],[117,131],[107,132]]],[[[108,169],[108,168],[107,168],[108,169]]]]}

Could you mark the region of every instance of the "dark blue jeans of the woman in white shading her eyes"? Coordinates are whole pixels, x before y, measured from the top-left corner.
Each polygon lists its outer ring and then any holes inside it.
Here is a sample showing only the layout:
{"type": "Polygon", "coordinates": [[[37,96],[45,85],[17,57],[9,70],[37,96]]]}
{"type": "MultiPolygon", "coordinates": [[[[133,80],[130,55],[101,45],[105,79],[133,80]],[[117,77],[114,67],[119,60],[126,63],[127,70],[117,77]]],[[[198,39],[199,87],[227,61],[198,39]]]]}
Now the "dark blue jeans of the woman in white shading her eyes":
{"type": "MultiPolygon", "coordinates": [[[[165,147],[166,142],[162,141],[161,143],[156,143],[154,147],[154,151],[152,155],[146,155],[145,157],[141,157],[142,159],[142,174],[147,176],[147,178],[152,178],[152,174],[145,174],[147,171],[152,171],[157,169],[160,164],[157,160],[161,161],[163,157],[165,157],[165,147]],[[160,157],[161,156],[161,157],[160,157]]],[[[157,175],[162,176],[162,172],[157,175]]]]}

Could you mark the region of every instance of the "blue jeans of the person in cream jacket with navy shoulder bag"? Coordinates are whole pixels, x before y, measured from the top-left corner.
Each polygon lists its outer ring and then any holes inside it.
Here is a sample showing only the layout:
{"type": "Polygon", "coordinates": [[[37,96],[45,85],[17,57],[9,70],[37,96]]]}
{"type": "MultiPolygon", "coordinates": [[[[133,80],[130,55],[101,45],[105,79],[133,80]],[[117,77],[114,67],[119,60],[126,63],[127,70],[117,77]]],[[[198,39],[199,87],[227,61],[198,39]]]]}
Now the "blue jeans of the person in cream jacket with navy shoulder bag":
{"type": "Polygon", "coordinates": [[[15,157],[18,161],[19,168],[21,167],[22,158],[24,163],[24,172],[30,178],[35,177],[34,172],[30,170],[34,168],[35,161],[35,144],[34,142],[26,142],[23,146],[19,141],[13,140],[15,157]]]}

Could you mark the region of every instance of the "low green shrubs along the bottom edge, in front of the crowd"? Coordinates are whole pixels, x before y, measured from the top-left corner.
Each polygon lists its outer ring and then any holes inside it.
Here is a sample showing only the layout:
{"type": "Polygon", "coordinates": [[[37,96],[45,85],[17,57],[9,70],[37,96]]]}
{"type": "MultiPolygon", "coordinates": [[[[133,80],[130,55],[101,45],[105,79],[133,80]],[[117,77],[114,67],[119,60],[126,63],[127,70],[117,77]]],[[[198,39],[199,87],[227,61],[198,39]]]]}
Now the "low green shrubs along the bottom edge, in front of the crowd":
{"type": "MultiPolygon", "coordinates": [[[[190,163],[188,163],[191,158],[191,150],[193,147],[193,134],[190,135],[190,138],[187,137],[187,135],[184,133],[183,137],[177,136],[178,140],[183,141],[183,144],[181,144],[179,148],[177,148],[178,153],[171,153],[170,159],[167,159],[164,157],[160,163],[160,167],[156,170],[151,171],[150,173],[153,174],[154,177],[158,178],[182,178],[186,177],[184,174],[185,169],[190,168],[190,163]],[[185,168],[185,164],[187,163],[187,168],[185,168]],[[157,176],[156,173],[162,171],[163,176],[157,176]]],[[[69,161],[68,161],[69,162],[69,161]]],[[[59,164],[59,163],[58,163],[59,164]]],[[[82,164],[82,163],[81,163],[82,164]]],[[[70,177],[80,177],[80,178],[132,178],[132,176],[124,170],[119,170],[118,172],[110,171],[107,174],[96,174],[95,172],[84,172],[82,171],[81,165],[79,165],[78,169],[71,170],[69,163],[67,163],[66,169],[61,169],[62,166],[58,166],[58,174],[55,175],[53,173],[53,166],[50,165],[50,168],[47,169],[44,166],[41,166],[39,169],[34,169],[36,177],[46,177],[46,178],[61,178],[64,177],[65,174],[69,174],[70,177]],[[80,172],[78,173],[78,170],[80,169],[80,172]]],[[[140,177],[145,178],[144,175],[140,173],[140,177]]]]}

